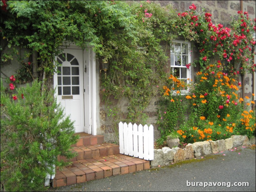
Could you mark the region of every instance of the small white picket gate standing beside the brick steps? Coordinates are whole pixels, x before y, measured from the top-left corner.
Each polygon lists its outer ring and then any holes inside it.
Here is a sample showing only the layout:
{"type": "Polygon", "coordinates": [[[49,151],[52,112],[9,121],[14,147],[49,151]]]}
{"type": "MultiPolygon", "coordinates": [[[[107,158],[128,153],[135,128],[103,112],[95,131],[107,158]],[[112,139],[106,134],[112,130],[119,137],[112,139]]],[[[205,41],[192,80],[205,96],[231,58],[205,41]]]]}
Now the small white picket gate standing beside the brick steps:
{"type": "Polygon", "coordinates": [[[154,159],[153,125],[119,123],[119,151],[121,154],[145,160],[154,159]]]}

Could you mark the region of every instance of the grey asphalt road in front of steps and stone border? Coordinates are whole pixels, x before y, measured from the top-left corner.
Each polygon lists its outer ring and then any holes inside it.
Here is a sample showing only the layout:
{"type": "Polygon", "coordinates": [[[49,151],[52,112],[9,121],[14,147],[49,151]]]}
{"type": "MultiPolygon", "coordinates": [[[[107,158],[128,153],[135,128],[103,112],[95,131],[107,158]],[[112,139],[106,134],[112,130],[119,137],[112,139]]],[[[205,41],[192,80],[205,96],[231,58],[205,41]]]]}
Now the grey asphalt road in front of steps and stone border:
{"type": "Polygon", "coordinates": [[[255,164],[253,145],[171,166],[50,188],[48,191],[256,191],[255,164]],[[218,186],[222,182],[226,186],[218,186]],[[242,185],[242,182],[249,186],[235,186],[242,185]],[[206,184],[208,186],[204,187],[206,184]]]}

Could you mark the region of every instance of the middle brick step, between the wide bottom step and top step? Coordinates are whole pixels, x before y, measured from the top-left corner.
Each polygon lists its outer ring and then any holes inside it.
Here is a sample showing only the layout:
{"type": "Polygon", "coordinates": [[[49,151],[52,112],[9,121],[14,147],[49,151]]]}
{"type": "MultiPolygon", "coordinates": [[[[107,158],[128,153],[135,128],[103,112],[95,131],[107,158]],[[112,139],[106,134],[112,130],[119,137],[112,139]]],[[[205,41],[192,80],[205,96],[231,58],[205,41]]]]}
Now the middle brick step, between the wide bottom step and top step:
{"type": "Polygon", "coordinates": [[[114,154],[119,154],[119,145],[111,143],[91,144],[73,147],[73,151],[77,152],[77,156],[73,159],[67,160],[64,156],[58,156],[58,160],[79,161],[82,159],[99,158],[114,154]]]}

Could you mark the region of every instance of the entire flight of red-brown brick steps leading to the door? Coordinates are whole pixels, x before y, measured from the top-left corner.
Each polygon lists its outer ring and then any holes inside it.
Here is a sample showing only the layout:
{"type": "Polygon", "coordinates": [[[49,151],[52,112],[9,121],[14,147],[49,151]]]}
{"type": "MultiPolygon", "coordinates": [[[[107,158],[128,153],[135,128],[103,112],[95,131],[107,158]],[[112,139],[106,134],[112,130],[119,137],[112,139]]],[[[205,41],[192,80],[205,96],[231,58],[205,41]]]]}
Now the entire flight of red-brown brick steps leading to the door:
{"type": "Polygon", "coordinates": [[[56,168],[53,187],[60,187],[149,169],[150,161],[119,154],[119,145],[104,143],[104,136],[78,133],[80,138],[74,144],[77,156],[67,160],[58,156],[58,160],[71,161],[69,166],[56,168]]]}

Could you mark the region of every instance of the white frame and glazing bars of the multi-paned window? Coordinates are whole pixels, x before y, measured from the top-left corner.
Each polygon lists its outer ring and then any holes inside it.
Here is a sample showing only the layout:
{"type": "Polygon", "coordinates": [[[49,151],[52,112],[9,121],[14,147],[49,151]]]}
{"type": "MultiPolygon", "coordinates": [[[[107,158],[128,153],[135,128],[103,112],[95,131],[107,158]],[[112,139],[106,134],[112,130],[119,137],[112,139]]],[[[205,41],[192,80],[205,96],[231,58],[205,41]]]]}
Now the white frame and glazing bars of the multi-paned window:
{"type": "Polygon", "coordinates": [[[172,41],[172,43],[170,44],[170,67],[171,67],[171,73],[175,74],[174,70],[175,70],[175,68],[178,68],[179,69],[179,77],[176,77],[176,78],[177,79],[181,79],[181,80],[186,80],[187,83],[190,83],[190,79],[191,79],[191,66],[190,66],[189,69],[186,67],[186,64],[189,64],[189,63],[191,63],[190,42],[188,42],[188,41],[181,41],[181,40],[174,40],[174,41],[172,41]],[[182,47],[183,44],[186,44],[187,45],[187,49],[188,49],[187,53],[185,53],[185,54],[182,53],[182,49],[180,49],[179,53],[178,52],[174,52],[174,50],[175,50],[174,44],[175,43],[180,43],[181,47],[182,47]],[[181,64],[180,65],[175,65],[175,55],[179,55],[181,58],[182,58],[182,56],[187,56],[187,62],[183,63],[183,60],[181,59],[181,64]],[[181,68],[186,69],[186,78],[182,78],[182,69],[181,68]]]}

